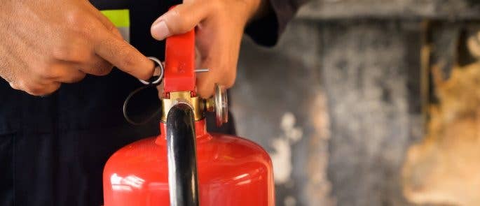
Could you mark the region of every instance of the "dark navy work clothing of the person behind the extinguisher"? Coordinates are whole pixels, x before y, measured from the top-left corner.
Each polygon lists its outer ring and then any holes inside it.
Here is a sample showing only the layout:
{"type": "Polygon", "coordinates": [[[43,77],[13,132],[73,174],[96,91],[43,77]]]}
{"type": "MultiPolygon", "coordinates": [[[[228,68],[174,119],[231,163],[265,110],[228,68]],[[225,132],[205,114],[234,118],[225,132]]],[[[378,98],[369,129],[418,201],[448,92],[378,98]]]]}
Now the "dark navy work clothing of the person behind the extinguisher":
{"type": "MultiPolygon", "coordinates": [[[[101,10],[130,9],[130,43],[146,56],[163,59],[163,42],[151,38],[150,25],[175,3],[165,2],[92,3],[101,10]]],[[[247,29],[265,45],[276,42],[296,9],[287,2],[273,5],[282,9],[247,29]],[[255,28],[268,28],[262,30],[268,32],[255,28]]],[[[11,89],[0,78],[0,205],[102,205],[102,170],[109,156],[130,142],[158,135],[158,120],[132,126],[123,118],[125,97],[141,86],[132,76],[114,69],[107,76],[87,76],[82,82],[63,84],[50,96],[35,97],[11,89]]],[[[137,118],[150,115],[159,106],[156,96],[156,89],[137,96],[130,106],[132,114],[137,118]]],[[[209,122],[210,131],[212,125],[209,122]]],[[[232,125],[222,129],[234,132],[232,125]]]]}

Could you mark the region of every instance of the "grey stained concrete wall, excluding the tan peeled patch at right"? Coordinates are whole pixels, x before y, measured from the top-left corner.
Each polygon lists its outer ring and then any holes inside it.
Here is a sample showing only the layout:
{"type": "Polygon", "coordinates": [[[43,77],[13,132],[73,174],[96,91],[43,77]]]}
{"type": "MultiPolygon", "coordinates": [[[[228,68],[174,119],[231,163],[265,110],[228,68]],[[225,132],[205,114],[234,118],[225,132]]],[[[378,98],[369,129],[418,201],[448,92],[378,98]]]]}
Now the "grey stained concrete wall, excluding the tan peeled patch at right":
{"type": "Polygon", "coordinates": [[[422,22],[476,21],[474,2],[317,0],[276,47],[244,39],[232,110],[272,156],[277,205],[413,205],[401,171],[425,134],[422,22]]]}

